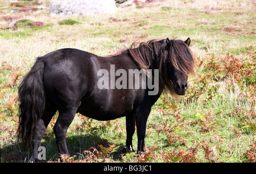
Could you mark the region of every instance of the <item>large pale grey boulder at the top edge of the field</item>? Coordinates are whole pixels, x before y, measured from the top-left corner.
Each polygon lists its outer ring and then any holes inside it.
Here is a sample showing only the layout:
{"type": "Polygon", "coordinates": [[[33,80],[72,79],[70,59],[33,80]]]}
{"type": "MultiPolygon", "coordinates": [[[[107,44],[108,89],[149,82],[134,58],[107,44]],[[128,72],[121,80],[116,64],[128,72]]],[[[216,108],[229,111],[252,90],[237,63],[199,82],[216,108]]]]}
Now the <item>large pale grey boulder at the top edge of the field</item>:
{"type": "Polygon", "coordinates": [[[49,14],[56,15],[101,15],[116,12],[115,0],[52,0],[49,14]]]}

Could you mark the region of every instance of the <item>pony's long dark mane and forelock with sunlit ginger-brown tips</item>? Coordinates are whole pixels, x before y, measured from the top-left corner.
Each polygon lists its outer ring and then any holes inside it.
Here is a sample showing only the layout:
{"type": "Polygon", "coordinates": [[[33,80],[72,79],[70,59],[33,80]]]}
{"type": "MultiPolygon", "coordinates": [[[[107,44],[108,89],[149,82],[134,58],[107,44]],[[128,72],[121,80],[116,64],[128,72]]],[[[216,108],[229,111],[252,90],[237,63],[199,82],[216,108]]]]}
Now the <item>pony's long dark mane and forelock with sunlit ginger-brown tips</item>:
{"type": "Polygon", "coordinates": [[[127,52],[140,69],[159,69],[159,92],[169,91],[172,96],[176,96],[168,75],[169,63],[187,75],[194,73],[196,63],[193,54],[181,40],[171,40],[170,46],[167,46],[166,39],[150,40],[139,44],[137,48],[133,43],[127,52]]]}

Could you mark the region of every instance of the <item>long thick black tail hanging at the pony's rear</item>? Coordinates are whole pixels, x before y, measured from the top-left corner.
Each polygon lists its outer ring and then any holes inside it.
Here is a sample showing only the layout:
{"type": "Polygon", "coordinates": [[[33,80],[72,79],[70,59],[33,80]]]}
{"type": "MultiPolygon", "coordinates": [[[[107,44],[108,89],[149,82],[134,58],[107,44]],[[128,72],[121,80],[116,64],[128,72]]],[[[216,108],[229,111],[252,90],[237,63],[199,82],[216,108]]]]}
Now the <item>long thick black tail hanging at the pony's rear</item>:
{"type": "Polygon", "coordinates": [[[35,125],[42,117],[46,105],[43,86],[44,61],[38,57],[35,65],[19,86],[18,140],[28,148],[31,146],[35,125]]]}

